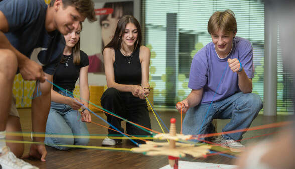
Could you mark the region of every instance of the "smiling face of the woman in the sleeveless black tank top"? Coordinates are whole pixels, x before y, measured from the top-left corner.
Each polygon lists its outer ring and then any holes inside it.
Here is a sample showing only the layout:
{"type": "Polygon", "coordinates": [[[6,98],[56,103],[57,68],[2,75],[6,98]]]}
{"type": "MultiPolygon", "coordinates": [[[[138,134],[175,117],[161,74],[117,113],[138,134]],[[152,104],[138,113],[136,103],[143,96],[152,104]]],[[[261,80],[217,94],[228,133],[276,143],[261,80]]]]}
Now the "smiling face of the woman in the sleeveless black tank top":
{"type": "Polygon", "coordinates": [[[133,46],[137,40],[138,32],[134,24],[128,23],[122,37],[122,45],[133,46]]]}

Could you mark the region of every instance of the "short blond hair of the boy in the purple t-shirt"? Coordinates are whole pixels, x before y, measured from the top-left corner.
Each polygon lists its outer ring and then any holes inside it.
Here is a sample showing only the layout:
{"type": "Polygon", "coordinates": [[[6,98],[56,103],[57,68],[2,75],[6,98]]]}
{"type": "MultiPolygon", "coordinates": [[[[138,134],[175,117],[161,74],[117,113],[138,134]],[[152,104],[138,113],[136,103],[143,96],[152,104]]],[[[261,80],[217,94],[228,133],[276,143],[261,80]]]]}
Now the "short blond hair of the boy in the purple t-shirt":
{"type": "Polygon", "coordinates": [[[226,33],[236,33],[238,31],[236,16],[232,10],[216,11],[208,21],[208,33],[214,34],[218,29],[226,33]]]}

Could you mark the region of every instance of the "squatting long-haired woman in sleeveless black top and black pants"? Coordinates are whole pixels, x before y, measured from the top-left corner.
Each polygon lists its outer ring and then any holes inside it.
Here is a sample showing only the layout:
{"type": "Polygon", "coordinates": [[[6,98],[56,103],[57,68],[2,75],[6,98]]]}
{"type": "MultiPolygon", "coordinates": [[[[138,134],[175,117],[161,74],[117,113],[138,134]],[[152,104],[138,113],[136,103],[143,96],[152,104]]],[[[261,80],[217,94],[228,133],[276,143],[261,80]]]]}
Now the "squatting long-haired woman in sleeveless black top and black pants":
{"type": "MultiPolygon", "coordinates": [[[[123,16],[117,24],[115,35],[103,50],[108,89],[101,97],[101,105],[131,122],[151,128],[145,96],[150,94],[148,83],[150,50],[141,46],[141,29],[138,21],[130,15],[123,16]]],[[[106,114],[107,121],[124,133],[121,119],[106,114]]],[[[109,128],[108,136],[120,135],[109,128]]],[[[149,135],[146,131],[126,124],[129,135],[149,135]]],[[[103,145],[116,145],[122,139],[106,137],[103,145]]],[[[144,141],[137,141],[144,143],[144,141]]]]}

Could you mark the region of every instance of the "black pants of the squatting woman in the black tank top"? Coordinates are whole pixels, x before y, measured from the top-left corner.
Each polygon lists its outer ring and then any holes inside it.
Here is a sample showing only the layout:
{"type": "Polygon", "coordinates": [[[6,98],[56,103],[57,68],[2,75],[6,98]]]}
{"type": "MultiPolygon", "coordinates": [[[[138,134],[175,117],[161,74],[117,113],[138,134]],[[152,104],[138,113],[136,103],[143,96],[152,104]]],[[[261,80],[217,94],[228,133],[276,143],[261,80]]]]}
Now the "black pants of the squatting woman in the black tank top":
{"type": "MultiPolygon", "coordinates": [[[[140,99],[139,97],[134,97],[131,92],[120,92],[115,88],[108,88],[101,97],[101,105],[104,109],[127,119],[135,124],[142,125],[149,129],[152,128],[151,120],[149,117],[149,111],[147,109],[147,103],[145,99],[140,99]]],[[[122,133],[124,129],[121,127],[122,119],[105,113],[107,116],[108,123],[112,124],[122,133]]],[[[118,135],[119,132],[113,131],[109,127],[108,136],[118,135]]],[[[129,135],[151,135],[148,132],[126,122],[126,131],[129,135]]],[[[140,140],[134,140],[138,143],[144,143],[140,140]]]]}

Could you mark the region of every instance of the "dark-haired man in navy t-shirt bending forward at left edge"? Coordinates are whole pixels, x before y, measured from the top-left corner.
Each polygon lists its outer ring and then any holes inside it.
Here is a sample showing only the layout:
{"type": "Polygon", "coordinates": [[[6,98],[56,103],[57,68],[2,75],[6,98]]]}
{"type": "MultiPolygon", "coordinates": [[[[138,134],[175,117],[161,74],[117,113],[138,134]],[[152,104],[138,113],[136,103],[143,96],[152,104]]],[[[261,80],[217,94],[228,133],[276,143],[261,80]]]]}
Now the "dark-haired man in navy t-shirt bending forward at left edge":
{"type": "MultiPolygon", "coordinates": [[[[47,6],[44,0],[0,1],[0,165],[4,168],[34,168],[15,158],[6,146],[6,131],[21,131],[20,119],[12,95],[15,73],[21,73],[24,80],[40,81],[42,94],[32,99],[33,132],[45,133],[50,109],[53,73],[61,58],[63,35],[77,29],[80,22],[88,18],[96,21],[94,3],[91,0],[51,0],[47,6]],[[13,100],[13,102],[12,102],[13,100]],[[17,165],[17,166],[15,166],[17,165]]],[[[36,93],[36,91],[35,91],[36,93]]],[[[19,138],[20,139],[20,138],[19,138]]],[[[20,140],[22,140],[21,138],[20,140]]],[[[44,137],[34,137],[35,142],[44,142],[44,137]]],[[[10,144],[18,156],[22,156],[23,144],[10,144]]],[[[45,161],[44,144],[32,144],[28,157],[45,161]]]]}

